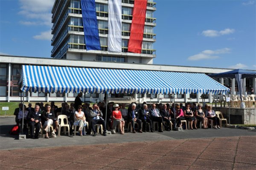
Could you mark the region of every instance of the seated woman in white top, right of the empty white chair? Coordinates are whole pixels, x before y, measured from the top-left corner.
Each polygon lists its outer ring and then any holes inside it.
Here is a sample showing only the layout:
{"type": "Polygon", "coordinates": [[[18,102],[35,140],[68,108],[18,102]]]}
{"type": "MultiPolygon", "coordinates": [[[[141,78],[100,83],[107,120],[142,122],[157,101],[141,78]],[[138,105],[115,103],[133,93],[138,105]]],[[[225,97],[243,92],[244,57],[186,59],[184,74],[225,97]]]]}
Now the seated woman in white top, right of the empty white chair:
{"type": "Polygon", "coordinates": [[[77,111],[75,112],[75,116],[76,116],[76,121],[74,122],[74,126],[79,126],[79,130],[78,132],[80,133],[80,136],[82,136],[82,130],[83,127],[87,126],[87,123],[85,121],[85,115],[84,112],[82,111],[82,106],[79,105],[77,111]]]}

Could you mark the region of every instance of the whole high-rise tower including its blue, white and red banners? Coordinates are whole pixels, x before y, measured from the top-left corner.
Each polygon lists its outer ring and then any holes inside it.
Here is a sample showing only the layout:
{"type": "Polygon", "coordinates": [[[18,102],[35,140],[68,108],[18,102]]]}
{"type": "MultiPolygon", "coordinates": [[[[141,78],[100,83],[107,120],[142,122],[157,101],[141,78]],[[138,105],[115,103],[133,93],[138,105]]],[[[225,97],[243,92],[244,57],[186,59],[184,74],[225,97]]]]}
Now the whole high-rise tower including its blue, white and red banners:
{"type": "Polygon", "coordinates": [[[155,5],[153,0],[55,0],[51,57],[153,63],[155,5]],[[97,40],[98,49],[90,48],[97,40]]]}

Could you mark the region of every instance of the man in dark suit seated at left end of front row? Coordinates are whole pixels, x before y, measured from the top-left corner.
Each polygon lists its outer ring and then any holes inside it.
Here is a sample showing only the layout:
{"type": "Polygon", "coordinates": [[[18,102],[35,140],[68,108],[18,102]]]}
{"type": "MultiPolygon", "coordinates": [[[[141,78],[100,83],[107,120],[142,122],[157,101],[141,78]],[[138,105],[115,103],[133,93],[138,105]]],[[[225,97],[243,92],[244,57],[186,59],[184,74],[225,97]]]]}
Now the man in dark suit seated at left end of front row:
{"type": "Polygon", "coordinates": [[[27,121],[30,127],[30,135],[32,138],[38,139],[39,130],[41,129],[41,112],[40,107],[35,105],[35,112],[29,112],[27,115],[27,121]],[[34,134],[35,130],[35,134],[34,134]]]}

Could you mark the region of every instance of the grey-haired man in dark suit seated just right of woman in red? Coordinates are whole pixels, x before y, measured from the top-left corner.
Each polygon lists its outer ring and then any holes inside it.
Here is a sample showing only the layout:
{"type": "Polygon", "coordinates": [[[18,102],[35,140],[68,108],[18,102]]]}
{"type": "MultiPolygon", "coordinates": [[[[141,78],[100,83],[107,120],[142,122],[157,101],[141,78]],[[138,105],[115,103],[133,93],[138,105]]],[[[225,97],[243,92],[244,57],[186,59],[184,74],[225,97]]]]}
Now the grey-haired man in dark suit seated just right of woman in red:
{"type": "Polygon", "coordinates": [[[131,122],[131,126],[133,128],[132,133],[136,133],[135,128],[134,128],[135,122],[138,124],[138,132],[142,133],[141,120],[139,119],[139,113],[138,113],[138,110],[136,109],[135,103],[132,103],[131,107],[128,109],[127,122],[128,123],[131,122]]]}

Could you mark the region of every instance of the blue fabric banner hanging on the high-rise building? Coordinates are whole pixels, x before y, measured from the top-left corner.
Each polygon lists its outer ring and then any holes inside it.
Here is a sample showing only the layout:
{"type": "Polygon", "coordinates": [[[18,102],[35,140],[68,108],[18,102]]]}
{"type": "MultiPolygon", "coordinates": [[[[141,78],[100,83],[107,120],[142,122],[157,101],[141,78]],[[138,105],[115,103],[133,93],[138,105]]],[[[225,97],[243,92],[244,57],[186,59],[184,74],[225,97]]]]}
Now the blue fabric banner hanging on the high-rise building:
{"type": "Polygon", "coordinates": [[[95,0],[81,0],[84,39],[87,50],[101,50],[95,0]]]}

